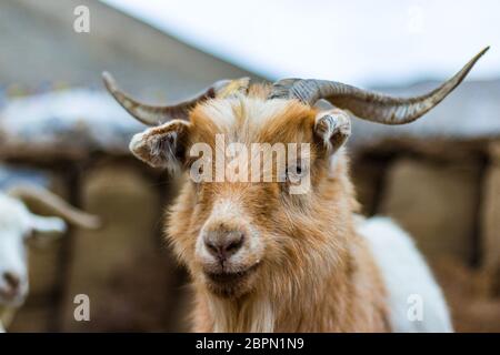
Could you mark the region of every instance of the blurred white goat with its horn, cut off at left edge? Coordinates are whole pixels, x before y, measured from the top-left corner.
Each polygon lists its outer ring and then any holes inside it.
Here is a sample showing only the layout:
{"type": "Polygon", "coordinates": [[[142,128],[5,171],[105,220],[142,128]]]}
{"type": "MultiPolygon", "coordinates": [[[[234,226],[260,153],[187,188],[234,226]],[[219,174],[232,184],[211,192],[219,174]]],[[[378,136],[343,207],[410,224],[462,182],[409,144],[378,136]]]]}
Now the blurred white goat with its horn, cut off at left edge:
{"type": "MultiPolygon", "coordinates": [[[[31,213],[23,201],[36,201],[77,226],[97,229],[100,221],[67,204],[49,191],[18,185],[0,192],[0,331],[9,326],[16,310],[28,296],[28,251],[26,242],[34,233],[62,233],[67,226],[58,216],[31,213]]],[[[48,235],[48,234],[46,234],[48,235]]]]}

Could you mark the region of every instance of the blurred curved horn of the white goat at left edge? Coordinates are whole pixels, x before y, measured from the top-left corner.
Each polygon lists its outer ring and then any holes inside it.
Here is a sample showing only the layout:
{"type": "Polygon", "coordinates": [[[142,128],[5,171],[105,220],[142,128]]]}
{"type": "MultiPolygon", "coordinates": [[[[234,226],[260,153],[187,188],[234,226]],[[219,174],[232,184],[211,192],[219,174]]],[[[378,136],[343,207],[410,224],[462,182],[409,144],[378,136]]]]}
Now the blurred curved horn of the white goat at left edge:
{"type": "Polygon", "coordinates": [[[58,195],[32,185],[18,185],[8,190],[8,195],[20,199],[22,201],[36,201],[48,207],[52,213],[67,220],[68,222],[89,230],[101,226],[98,216],[80,211],[58,195]]]}

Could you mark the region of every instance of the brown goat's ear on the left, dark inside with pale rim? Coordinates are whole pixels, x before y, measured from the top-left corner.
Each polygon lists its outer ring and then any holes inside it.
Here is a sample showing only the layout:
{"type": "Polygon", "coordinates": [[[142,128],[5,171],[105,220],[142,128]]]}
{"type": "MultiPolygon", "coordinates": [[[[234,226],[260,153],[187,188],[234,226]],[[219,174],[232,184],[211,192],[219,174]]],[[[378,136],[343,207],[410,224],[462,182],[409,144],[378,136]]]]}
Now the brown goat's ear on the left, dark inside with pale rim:
{"type": "Polygon", "coordinates": [[[153,168],[178,171],[183,164],[190,126],[187,121],[173,120],[148,129],[132,138],[129,149],[153,168]]]}

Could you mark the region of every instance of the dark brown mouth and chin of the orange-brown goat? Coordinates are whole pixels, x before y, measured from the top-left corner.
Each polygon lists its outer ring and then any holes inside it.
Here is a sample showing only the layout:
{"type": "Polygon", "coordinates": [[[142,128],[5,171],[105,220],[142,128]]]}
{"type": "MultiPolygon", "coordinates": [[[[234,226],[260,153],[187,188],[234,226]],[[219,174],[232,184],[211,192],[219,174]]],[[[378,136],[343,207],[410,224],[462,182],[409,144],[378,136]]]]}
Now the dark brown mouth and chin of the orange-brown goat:
{"type": "Polygon", "coordinates": [[[220,296],[233,297],[241,295],[250,288],[251,280],[258,267],[259,263],[238,271],[206,271],[207,285],[210,291],[220,296]]]}

